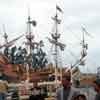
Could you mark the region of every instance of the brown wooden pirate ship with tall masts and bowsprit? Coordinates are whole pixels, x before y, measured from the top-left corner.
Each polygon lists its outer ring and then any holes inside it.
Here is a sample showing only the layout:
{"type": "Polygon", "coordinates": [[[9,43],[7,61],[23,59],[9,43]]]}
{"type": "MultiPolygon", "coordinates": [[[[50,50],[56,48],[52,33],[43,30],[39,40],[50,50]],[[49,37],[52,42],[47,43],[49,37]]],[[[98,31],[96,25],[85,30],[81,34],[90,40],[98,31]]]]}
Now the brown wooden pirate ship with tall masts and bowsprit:
{"type": "MultiPolygon", "coordinates": [[[[55,24],[55,30],[51,33],[51,38],[47,38],[53,45],[54,64],[48,63],[47,54],[43,51],[44,43],[42,40],[35,42],[35,36],[32,34],[32,26],[36,27],[37,22],[31,20],[28,15],[27,33],[9,41],[8,35],[4,32],[5,43],[0,45],[0,77],[8,82],[21,82],[28,80],[29,82],[54,81],[62,77],[65,68],[60,68],[58,64],[58,52],[64,50],[65,44],[59,42],[61,34],[58,32],[58,25],[61,20],[59,13],[63,13],[62,9],[56,5],[56,15],[52,17],[55,24]],[[14,45],[20,38],[26,37],[25,48],[14,45]],[[3,52],[2,52],[3,51],[3,52]]],[[[85,43],[85,29],[83,29],[83,40],[81,42],[82,52],[79,60],[71,65],[72,74],[77,69],[76,66],[84,65],[84,59],[87,55],[88,45],[85,43]]]]}

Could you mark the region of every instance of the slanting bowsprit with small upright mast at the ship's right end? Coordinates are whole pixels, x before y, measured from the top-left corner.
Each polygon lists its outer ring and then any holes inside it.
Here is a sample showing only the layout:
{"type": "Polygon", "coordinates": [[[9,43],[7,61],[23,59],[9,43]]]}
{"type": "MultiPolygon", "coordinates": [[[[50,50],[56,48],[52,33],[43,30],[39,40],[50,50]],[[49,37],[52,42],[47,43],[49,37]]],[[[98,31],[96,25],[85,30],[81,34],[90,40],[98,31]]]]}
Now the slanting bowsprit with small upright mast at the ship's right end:
{"type": "Polygon", "coordinates": [[[71,81],[73,82],[73,79],[74,79],[74,82],[78,82],[79,81],[79,78],[80,78],[80,75],[78,75],[75,79],[74,75],[73,75],[73,71],[77,72],[78,70],[78,66],[81,65],[81,66],[84,66],[85,65],[85,60],[86,60],[86,56],[87,56],[87,49],[88,49],[88,44],[86,43],[85,41],[85,34],[86,34],[86,30],[84,27],[82,27],[82,41],[81,41],[81,56],[80,56],[80,59],[77,60],[75,62],[75,64],[71,65],[71,81]]]}

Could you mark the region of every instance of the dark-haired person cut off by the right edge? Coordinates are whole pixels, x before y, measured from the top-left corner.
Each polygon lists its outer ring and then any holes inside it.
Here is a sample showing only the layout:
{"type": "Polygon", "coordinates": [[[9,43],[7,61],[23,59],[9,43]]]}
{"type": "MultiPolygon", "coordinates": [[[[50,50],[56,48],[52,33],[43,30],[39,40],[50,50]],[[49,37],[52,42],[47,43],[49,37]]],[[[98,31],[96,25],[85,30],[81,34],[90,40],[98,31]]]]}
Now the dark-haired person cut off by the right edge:
{"type": "Polygon", "coordinates": [[[96,79],[94,82],[94,90],[97,93],[95,100],[100,100],[100,79],[96,79]]]}

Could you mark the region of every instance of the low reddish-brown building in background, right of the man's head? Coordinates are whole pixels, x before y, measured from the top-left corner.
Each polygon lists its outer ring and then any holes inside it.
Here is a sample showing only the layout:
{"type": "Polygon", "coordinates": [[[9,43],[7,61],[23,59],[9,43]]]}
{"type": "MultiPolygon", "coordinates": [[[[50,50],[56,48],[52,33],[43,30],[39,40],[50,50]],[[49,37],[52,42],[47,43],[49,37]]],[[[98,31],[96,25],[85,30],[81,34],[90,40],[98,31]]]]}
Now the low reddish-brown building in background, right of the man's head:
{"type": "Polygon", "coordinates": [[[77,67],[72,71],[72,79],[73,84],[79,85],[79,87],[84,86],[92,86],[93,81],[96,79],[97,74],[95,73],[83,73],[80,71],[80,69],[77,67]]]}

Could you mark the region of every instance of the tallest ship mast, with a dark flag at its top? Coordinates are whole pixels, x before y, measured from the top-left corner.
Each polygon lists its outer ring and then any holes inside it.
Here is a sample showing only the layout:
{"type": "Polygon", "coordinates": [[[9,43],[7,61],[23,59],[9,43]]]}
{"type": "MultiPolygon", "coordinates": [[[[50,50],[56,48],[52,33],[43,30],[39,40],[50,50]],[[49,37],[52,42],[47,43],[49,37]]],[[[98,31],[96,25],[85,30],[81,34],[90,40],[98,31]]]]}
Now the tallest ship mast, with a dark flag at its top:
{"type": "Polygon", "coordinates": [[[64,50],[65,44],[62,44],[59,42],[60,35],[58,32],[58,25],[61,24],[61,20],[58,18],[57,11],[62,11],[58,6],[56,5],[56,15],[52,17],[54,23],[55,23],[55,33],[51,34],[51,38],[48,38],[49,42],[54,45],[54,61],[55,61],[55,82],[56,82],[56,88],[57,88],[57,73],[58,73],[58,47],[61,49],[61,51],[64,50]]]}

